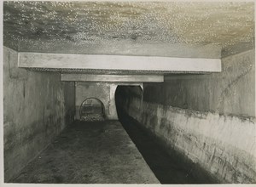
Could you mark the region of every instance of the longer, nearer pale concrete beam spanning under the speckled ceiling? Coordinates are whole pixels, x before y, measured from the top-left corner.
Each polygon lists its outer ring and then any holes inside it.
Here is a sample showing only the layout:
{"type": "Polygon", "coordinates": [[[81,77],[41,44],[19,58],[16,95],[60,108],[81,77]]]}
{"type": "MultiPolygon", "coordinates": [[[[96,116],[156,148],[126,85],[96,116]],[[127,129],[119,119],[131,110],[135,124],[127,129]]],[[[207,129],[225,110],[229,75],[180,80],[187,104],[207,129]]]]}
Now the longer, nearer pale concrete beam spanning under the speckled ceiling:
{"type": "Polygon", "coordinates": [[[220,59],[19,53],[19,67],[126,71],[219,72],[220,59]]]}

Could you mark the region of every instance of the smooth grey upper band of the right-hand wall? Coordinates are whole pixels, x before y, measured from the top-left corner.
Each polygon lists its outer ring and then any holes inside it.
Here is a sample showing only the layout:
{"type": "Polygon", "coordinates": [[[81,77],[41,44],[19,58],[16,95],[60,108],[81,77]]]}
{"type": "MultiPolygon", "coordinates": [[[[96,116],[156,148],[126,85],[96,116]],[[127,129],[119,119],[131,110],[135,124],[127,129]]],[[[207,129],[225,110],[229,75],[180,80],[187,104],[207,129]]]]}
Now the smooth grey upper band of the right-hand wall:
{"type": "Polygon", "coordinates": [[[222,72],[166,76],[162,83],[144,83],[145,101],[195,111],[255,117],[255,52],[222,59],[222,72]]]}

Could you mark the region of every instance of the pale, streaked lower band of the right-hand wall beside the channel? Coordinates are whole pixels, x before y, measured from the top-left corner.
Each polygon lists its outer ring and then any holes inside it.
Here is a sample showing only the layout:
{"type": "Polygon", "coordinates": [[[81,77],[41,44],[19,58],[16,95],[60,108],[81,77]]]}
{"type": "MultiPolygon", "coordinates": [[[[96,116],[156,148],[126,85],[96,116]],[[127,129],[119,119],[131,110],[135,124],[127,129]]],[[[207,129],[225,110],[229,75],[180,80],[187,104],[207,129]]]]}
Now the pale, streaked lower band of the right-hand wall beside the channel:
{"type": "Polygon", "coordinates": [[[123,102],[125,111],[160,139],[171,154],[178,152],[189,158],[221,183],[256,182],[254,119],[142,104],[134,94],[123,102]]]}

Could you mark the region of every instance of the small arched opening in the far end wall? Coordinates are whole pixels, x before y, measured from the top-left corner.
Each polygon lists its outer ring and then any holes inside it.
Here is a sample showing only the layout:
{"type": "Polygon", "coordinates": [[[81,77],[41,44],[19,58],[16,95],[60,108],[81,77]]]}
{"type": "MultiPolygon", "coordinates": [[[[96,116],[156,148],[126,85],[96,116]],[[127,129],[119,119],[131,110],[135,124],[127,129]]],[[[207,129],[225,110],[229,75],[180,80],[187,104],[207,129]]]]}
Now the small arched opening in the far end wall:
{"type": "Polygon", "coordinates": [[[105,120],[104,105],[100,99],[87,98],[80,106],[80,120],[103,121],[105,120]]]}

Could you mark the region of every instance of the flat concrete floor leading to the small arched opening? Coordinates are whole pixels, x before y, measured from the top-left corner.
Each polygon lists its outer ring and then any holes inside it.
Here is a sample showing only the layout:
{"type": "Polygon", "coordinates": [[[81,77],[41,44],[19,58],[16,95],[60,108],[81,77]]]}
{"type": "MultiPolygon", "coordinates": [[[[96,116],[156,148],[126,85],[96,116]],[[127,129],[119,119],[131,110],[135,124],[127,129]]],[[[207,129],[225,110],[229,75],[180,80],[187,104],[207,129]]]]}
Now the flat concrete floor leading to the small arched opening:
{"type": "Polygon", "coordinates": [[[10,182],[159,184],[118,121],[74,122],[10,182]]]}

